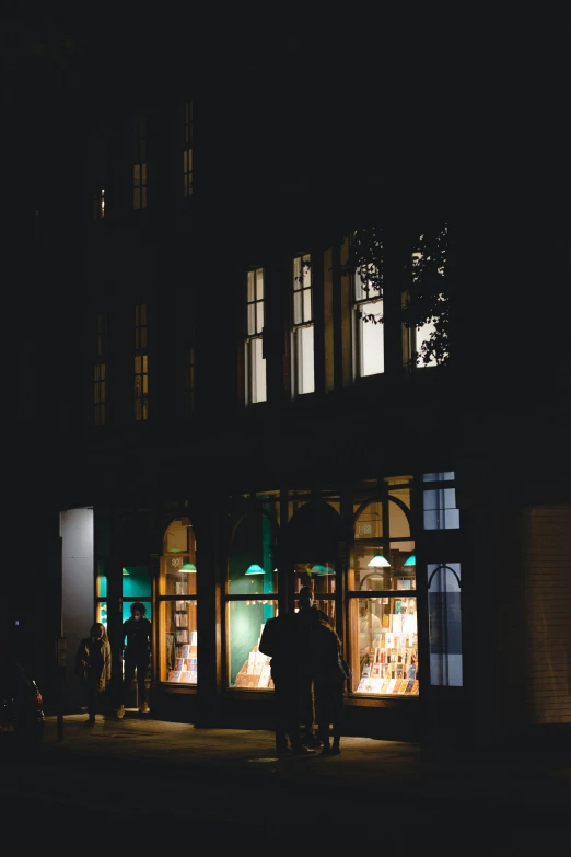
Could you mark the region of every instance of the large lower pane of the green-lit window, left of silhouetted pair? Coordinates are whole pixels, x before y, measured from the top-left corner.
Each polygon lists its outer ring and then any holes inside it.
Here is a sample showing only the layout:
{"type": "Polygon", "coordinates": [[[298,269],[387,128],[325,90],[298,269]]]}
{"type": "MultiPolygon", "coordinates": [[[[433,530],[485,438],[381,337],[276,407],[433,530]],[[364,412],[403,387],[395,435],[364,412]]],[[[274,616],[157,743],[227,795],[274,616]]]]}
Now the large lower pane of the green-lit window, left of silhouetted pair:
{"type": "Polygon", "coordinates": [[[231,601],[228,612],[230,686],[271,690],[270,658],[258,651],[258,644],[266,621],[278,614],[278,602],[231,601]]]}

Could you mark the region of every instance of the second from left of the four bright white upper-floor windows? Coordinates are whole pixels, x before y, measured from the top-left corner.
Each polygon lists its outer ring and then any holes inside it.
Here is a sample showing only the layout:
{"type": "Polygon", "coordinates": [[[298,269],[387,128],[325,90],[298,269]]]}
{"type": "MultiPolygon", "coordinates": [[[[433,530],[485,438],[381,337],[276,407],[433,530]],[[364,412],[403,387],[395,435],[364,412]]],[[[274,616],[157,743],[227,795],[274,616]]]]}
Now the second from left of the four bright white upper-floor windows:
{"type": "Polygon", "coordinates": [[[315,390],[312,259],[308,254],[293,259],[292,370],[293,394],[315,390]]]}

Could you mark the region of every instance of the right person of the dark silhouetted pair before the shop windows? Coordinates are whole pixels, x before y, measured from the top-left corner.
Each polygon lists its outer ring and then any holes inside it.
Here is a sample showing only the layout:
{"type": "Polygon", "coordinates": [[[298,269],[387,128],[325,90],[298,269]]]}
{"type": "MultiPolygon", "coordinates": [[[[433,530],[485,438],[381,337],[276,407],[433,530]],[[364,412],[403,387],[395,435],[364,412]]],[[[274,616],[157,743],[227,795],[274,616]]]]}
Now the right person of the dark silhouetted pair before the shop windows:
{"type": "Polygon", "coordinates": [[[312,619],[311,669],[315,695],[317,737],[323,743],[323,755],[341,752],[341,722],[346,675],[339,662],[341,641],[328,622],[315,615],[312,619]],[[333,727],[333,744],[329,727],[333,727]]]}

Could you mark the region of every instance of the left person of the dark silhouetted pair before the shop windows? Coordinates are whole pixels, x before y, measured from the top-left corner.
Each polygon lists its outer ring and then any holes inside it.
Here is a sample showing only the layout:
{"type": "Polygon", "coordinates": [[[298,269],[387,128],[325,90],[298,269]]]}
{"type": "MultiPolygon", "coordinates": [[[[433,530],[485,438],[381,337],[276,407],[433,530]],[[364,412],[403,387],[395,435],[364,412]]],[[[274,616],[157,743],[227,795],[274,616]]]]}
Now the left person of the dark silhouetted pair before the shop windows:
{"type": "Polygon", "coordinates": [[[315,755],[301,737],[298,722],[300,664],[308,657],[296,613],[280,613],[266,621],[259,651],[268,655],[276,694],[276,752],[278,755],[315,755]],[[288,740],[289,744],[288,745],[288,740]]]}

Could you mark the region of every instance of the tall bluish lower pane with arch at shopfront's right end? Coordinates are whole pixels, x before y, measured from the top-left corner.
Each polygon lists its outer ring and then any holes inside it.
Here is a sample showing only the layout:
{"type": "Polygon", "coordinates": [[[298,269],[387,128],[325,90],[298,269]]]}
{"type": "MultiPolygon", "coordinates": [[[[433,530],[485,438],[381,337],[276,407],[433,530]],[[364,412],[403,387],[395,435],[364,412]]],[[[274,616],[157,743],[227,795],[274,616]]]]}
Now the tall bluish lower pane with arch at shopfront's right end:
{"type": "Polygon", "coordinates": [[[429,564],[430,683],[463,684],[461,566],[429,564]]]}

